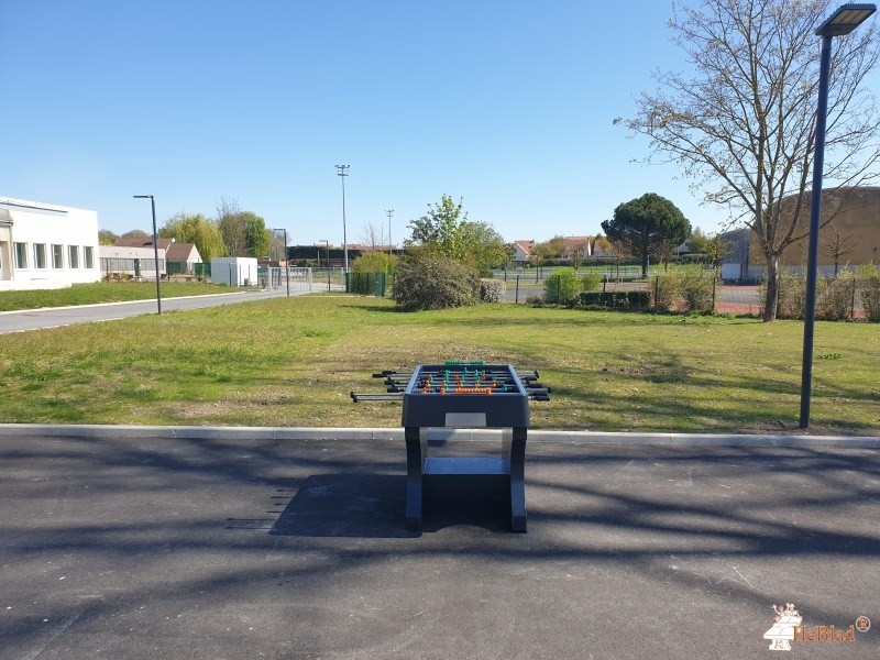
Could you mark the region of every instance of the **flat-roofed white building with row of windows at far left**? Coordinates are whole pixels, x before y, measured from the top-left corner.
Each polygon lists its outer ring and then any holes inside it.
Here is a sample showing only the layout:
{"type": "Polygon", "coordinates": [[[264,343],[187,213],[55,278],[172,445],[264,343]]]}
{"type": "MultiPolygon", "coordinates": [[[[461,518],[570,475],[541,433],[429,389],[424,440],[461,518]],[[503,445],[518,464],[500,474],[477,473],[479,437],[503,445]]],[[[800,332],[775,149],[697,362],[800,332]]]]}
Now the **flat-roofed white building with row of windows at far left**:
{"type": "Polygon", "coordinates": [[[0,290],[100,278],[97,211],[0,197],[0,290]]]}

